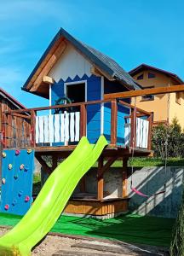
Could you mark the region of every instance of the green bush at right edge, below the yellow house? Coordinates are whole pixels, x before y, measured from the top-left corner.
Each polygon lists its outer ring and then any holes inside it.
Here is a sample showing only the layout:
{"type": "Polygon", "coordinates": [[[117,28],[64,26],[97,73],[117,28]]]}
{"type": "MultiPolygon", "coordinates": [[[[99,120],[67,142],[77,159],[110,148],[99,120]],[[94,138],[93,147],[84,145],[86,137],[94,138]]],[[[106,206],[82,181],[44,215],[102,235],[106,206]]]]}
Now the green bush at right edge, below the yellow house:
{"type": "Polygon", "coordinates": [[[170,125],[158,125],[152,128],[152,150],[156,157],[184,157],[184,133],[175,118],[170,125]]]}

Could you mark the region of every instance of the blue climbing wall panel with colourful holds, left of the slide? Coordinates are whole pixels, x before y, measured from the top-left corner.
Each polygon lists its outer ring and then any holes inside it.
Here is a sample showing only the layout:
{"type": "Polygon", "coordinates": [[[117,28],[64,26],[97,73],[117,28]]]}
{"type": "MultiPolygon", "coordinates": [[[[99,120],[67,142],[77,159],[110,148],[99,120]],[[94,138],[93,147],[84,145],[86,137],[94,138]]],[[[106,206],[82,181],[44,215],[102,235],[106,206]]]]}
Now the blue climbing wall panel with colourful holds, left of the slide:
{"type": "Polygon", "coordinates": [[[1,212],[24,215],[32,205],[34,151],[3,150],[1,212]]]}

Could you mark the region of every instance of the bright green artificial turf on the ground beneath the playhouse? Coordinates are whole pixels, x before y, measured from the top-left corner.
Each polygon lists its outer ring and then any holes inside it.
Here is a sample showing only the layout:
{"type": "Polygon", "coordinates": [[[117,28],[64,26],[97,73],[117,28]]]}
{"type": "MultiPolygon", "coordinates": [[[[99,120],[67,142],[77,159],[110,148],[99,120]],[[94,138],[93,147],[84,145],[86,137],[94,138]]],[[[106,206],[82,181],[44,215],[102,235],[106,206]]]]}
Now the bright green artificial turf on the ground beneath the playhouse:
{"type": "MultiPolygon", "coordinates": [[[[0,225],[14,226],[20,218],[0,213],[0,225]]],[[[142,217],[133,214],[106,220],[60,216],[50,231],[169,247],[174,222],[171,218],[142,217]]]]}

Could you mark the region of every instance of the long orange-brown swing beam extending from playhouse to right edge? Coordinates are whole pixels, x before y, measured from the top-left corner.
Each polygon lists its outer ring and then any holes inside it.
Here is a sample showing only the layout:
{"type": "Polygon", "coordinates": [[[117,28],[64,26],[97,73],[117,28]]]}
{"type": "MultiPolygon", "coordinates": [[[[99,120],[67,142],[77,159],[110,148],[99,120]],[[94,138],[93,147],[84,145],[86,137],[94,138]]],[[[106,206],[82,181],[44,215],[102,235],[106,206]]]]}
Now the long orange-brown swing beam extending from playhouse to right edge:
{"type": "Polygon", "coordinates": [[[105,94],[104,99],[112,100],[117,98],[130,98],[130,97],[136,97],[136,96],[158,95],[158,94],[180,92],[180,91],[184,91],[184,84],[173,85],[170,87],[159,87],[159,88],[144,89],[144,90],[129,90],[124,92],[105,94]]]}

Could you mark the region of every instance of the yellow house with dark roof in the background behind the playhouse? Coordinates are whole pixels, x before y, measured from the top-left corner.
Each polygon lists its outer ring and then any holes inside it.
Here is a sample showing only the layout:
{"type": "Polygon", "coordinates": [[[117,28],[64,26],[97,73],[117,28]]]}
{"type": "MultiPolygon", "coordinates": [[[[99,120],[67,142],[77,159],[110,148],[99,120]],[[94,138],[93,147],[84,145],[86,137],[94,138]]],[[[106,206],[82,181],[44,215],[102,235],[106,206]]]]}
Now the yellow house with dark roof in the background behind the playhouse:
{"type": "MultiPolygon", "coordinates": [[[[184,84],[175,73],[170,73],[146,64],[135,67],[129,71],[129,74],[143,89],[184,84]]],[[[170,95],[141,96],[137,98],[136,102],[137,107],[153,113],[153,122],[155,125],[168,121],[171,122],[176,117],[181,127],[184,128],[183,92],[171,93],[170,95]]]]}

